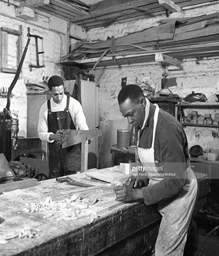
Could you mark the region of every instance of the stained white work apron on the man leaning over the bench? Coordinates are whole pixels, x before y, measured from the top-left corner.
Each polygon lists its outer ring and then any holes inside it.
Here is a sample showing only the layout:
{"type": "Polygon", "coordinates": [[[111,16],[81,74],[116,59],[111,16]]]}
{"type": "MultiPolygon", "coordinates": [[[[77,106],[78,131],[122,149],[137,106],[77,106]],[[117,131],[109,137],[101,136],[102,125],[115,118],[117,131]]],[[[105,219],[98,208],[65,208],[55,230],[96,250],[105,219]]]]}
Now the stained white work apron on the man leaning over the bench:
{"type": "MultiPolygon", "coordinates": [[[[163,177],[160,177],[156,171],[154,157],[154,140],[158,122],[158,114],[159,106],[156,105],[151,148],[145,149],[142,147],[137,147],[138,158],[141,160],[141,164],[143,167],[145,167],[146,171],[149,170],[146,173],[149,177],[148,186],[153,186],[163,179],[163,177]],[[149,169],[147,168],[148,166],[149,169]]],[[[192,218],[192,212],[194,210],[194,203],[196,201],[197,194],[196,177],[190,167],[186,169],[186,180],[186,184],[177,197],[160,201],[158,203],[158,211],[162,215],[162,221],[160,223],[158,238],[156,240],[155,256],[184,255],[184,246],[186,244],[188,227],[192,218]]]]}

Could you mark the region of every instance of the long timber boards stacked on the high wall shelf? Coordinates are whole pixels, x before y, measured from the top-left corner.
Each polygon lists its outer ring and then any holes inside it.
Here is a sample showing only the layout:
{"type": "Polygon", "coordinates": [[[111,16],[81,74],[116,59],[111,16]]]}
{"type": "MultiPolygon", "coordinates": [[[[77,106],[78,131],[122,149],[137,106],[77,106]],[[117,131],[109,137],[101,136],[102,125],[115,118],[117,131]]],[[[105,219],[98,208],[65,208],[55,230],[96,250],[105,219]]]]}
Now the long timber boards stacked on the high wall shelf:
{"type": "Polygon", "coordinates": [[[77,42],[74,49],[61,58],[61,63],[81,59],[147,55],[154,61],[155,53],[178,59],[219,55],[219,14],[193,18],[160,20],[156,27],[130,33],[119,38],[96,42],[77,42]]]}

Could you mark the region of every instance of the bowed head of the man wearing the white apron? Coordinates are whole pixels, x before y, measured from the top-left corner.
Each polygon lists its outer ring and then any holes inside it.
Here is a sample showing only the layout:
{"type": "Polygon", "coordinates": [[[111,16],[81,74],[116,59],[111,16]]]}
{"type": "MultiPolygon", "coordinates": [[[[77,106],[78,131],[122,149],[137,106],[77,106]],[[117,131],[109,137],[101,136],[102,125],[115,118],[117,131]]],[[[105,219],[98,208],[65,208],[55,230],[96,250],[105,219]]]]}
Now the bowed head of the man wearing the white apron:
{"type": "Polygon", "coordinates": [[[141,128],[145,119],[146,100],[138,85],[126,85],[118,95],[119,109],[128,122],[141,128]]]}

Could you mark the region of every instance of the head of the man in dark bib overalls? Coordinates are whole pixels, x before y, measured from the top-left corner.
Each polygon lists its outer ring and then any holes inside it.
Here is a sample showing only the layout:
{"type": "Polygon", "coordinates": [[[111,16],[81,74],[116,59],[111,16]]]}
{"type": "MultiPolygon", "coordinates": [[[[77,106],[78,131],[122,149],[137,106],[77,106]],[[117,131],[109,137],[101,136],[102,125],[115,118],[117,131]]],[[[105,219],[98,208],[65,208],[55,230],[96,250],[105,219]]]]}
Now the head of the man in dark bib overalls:
{"type": "Polygon", "coordinates": [[[60,76],[51,76],[48,79],[48,89],[50,89],[53,100],[57,104],[61,104],[64,96],[64,83],[60,76]]]}

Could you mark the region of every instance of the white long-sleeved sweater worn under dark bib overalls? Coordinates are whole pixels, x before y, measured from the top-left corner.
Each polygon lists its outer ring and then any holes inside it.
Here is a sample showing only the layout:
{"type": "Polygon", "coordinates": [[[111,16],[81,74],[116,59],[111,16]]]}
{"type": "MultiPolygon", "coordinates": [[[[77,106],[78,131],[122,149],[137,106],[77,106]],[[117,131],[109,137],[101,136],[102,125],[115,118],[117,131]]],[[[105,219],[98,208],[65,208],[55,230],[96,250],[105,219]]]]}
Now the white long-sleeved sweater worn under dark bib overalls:
{"type": "MultiPolygon", "coordinates": [[[[52,112],[64,111],[66,103],[67,103],[66,95],[63,96],[63,100],[61,101],[61,104],[55,103],[53,98],[51,98],[50,99],[51,111],[52,112]]],[[[76,128],[79,128],[80,130],[89,130],[85,115],[83,113],[82,106],[80,102],[78,102],[78,100],[75,100],[74,98],[70,97],[68,110],[76,128]]],[[[47,117],[48,117],[48,107],[47,107],[47,102],[45,102],[40,108],[38,134],[42,141],[53,143],[53,141],[50,141],[48,139],[49,135],[53,134],[53,132],[48,132],[47,117]]]]}

